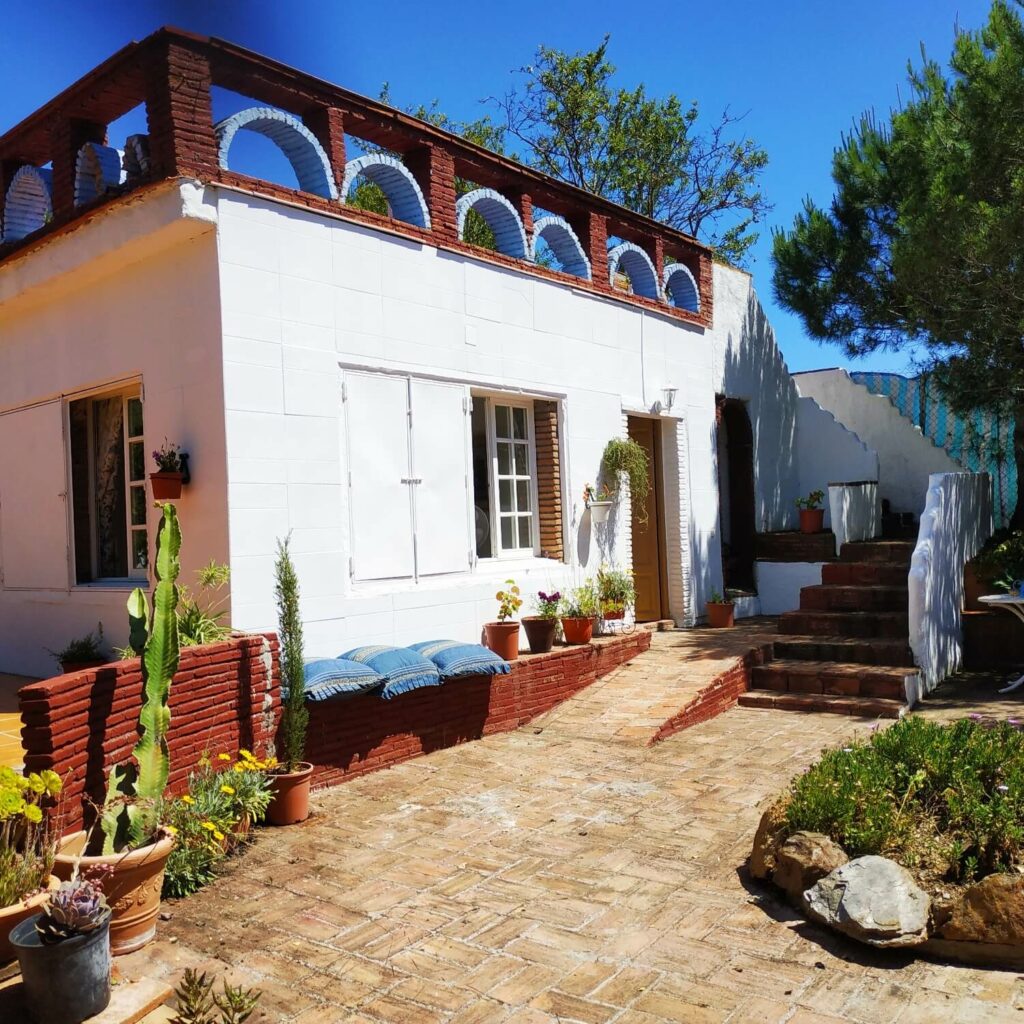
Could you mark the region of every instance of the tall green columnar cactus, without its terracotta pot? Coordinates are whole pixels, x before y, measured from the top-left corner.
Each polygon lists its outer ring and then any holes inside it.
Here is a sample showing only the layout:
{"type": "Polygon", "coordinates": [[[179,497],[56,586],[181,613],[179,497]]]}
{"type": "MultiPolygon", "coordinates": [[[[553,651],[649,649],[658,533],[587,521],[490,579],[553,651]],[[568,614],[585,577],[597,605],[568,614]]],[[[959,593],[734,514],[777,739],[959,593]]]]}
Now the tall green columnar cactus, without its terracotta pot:
{"type": "Polygon", "coordinates": [[[147,843],[157,830],[160,801],[167,787],[171,759],[167,730],[171,723],[168,698],[178,671],[178,587],[181,530],[177,512],[164,505],[157,535],[153,614],[140,589],[128,598],[131,646],[141,652],[143,703],[139,712],[139,739],[132,751],[134,764],[115,765],[108,779],[100,827],[103,854],[147,843]]]}

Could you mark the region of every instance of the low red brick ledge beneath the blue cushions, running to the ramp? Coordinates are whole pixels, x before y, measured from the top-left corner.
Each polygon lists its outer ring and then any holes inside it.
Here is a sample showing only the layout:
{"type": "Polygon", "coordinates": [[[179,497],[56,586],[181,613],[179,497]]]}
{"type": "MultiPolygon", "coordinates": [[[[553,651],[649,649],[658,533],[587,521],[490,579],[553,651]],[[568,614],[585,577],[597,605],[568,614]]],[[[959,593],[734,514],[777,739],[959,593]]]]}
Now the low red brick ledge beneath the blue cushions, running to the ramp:
{"type": "Polygon", "coordinates": [[[508,732],[650,647],[650,633],[599,637],[524,655],[507,676],[472,676],[402,693],[309,706],[306,758],[313,784],[334,785],[431,751],[508,732]]]}

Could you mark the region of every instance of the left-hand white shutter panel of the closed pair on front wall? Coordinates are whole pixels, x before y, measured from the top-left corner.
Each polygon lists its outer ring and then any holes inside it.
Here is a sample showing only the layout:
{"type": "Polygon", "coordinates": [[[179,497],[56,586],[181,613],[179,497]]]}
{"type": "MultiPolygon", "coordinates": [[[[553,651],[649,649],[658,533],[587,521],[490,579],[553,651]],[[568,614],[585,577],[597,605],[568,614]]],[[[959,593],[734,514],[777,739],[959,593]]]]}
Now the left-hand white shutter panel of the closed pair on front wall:
{"type": "Polygon", "coordinates": [[[352,575],[412,577],[409,381],[348,373],[345,396],[352,575]]]}

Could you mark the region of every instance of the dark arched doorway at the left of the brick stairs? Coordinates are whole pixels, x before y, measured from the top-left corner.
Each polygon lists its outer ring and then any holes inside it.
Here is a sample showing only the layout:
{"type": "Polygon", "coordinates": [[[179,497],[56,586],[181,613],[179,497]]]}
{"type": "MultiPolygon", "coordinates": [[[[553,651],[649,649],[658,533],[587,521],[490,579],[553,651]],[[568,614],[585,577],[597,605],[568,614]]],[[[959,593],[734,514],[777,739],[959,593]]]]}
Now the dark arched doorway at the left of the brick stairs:
{"type": "Polygon", "coordinates": [[[740,398],[716,400],[722,574],[729,590],[754,590],[754,430],[740,398]]]}

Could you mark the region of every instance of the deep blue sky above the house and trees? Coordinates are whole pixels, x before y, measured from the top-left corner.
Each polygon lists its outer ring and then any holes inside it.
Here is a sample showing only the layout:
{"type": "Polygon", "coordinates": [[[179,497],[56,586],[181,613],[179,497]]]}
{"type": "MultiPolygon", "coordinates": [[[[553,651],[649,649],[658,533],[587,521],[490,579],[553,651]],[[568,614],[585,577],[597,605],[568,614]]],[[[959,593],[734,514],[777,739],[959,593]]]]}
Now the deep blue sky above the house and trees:
{"type": "MultiPolygon", "coordinates": [[[[0,133],[120,46],[161,25],[221,36],[359,92],[391,84],[402,105],[438,99],[472,119],[481,97],[502,92],[537,46],[590,48],[606,32],[624,85],[696,99],[716,118],[745,113],[745,131],[767,151],[764,188],[775,209],[752,266],[755,284],[793,370],[851,366],[807,338],[771,295],[770,227],[785,226],[804,196],[831,195],[840,133],[867,109],[884,113],[904,87],[906,61],[924,43],[940,59],[953,26],[979,27],[987,0],[676,0],[624,6],[610,0],[509,4],[342,3],[339,0],[136,0],[9,3],[0,34],[0,133]],[[644,13],[649,12],[648,17],[644,13]]],[[[112,135],[114,144],[123,138],[112,135]]],[[[905,371],[899,353],[865,369],[905,371]]]]}

